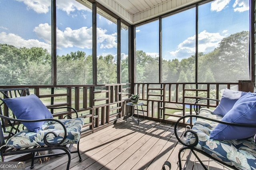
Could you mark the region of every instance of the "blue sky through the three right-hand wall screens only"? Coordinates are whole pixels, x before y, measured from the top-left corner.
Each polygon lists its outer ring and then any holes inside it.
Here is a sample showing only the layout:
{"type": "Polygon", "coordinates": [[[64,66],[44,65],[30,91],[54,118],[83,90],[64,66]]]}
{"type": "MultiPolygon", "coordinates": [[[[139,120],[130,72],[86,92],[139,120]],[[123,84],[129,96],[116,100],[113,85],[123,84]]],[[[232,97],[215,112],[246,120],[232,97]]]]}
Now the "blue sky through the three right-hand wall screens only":
{"type": "MultiPolygon", "coordinates": [[[[218,47],[224,37],[249,31],[248,0],[216,0],[199,6],[198,12],[199,51],[205,54],[218,47]]],[[[181,60],[195,54],[195,14],[192,8],[162,19],[163,59],[181,60]]],[[[158,39],[148,36],[158,35],[158,21],[137,27],[136,32],[136,49],[158,56],[158,39]]]]}

